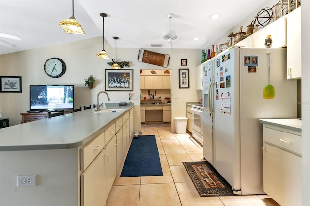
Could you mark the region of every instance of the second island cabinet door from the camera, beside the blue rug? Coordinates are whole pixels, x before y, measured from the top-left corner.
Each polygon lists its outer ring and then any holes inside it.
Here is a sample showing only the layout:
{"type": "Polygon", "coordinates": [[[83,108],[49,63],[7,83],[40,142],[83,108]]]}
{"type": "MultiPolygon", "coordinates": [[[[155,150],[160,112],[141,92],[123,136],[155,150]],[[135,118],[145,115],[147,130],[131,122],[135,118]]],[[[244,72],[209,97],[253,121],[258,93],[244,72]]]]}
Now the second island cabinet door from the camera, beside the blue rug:
{"type": "Polygon", "coordinates": [[[107,199],[117,173],[116,136],[112,137],[112,139],[106,145],[105,149],[106,149],[105,163],[106,163],[106,199],[107,199]]]}

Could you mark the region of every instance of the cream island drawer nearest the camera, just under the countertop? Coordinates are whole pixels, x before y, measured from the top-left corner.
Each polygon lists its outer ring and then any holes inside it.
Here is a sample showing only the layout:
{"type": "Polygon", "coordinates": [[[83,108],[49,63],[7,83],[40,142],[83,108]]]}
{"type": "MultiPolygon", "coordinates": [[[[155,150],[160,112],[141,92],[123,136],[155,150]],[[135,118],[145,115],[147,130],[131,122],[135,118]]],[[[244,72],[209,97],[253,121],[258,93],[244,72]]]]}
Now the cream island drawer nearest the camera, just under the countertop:
{"type": "Polygon", "coordinates": [[[102,132],[93,141],[81,148],[81,171],[84,171],[93,162],[103,147],[105,147],[105,132],[102,132]]]}

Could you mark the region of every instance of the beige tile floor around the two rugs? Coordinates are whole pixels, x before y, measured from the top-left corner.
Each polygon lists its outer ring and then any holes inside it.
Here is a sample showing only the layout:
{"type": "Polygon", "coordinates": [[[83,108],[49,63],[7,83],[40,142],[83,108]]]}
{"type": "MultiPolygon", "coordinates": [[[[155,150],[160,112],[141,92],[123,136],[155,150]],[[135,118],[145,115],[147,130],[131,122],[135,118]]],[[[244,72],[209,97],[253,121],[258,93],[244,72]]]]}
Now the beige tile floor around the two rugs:
{"type": "Polygon", "coordinates": [[[141,128],[143,135],[156,136],[163,176],[119,177],[121,166],[106,206],[266,205],[263,199],[270,199],[267,195],[200,197],[182,162],[203,161],[202,146],[190,134],[176,134],[170,129],[141,128]]]}

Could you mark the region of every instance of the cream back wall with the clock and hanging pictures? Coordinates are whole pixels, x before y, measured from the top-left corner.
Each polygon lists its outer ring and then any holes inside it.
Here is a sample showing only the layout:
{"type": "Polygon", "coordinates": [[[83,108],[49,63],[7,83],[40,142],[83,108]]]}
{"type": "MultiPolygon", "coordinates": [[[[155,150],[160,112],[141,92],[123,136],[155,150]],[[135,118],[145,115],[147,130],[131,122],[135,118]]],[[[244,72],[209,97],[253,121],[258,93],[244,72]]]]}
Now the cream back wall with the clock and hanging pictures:
{"type": "MultiPolygon", "coordinates": [[[[121,40],[120,40],[121,41],[121,40]]],[[[172,45],[173,47],[173,45],[172,45]]],[[[105,90],[105,69],[111,67],[107,62],[115,59],[115,48],[105,44],[105,50],[111,59],[98,59],[96,54],[102,49],[101,37],[82,40],[67,44],[58,44],[21,51],[0,56],[1,76],[21,76],[22,93],[0,93],[0,111],[2,118],[10,118],[10,125],[20,124],[20,113],[29,110],[29,85],[39,84],[74,84],[75,107],[96,104],[97,93],[105,90]],[[44,72],[47,59],[58,57],[65,61],[67,70],[60,78],[51,78],[44,72]],[[92,90],[84,86],[84,79],[93,75],[96,79],[92,90]]],[[[139,48],[117,48],[119,61],[129,61],[133,70],[132,102],[135,103],[135,131],[140,131],[140,69],[170,69],[172,119],[176,116],[186,117],[186,102],[199,101],[195,88],[195,68],[201,61],[200,49],[147,49],[171,57],[168,68],[140,63],[137,60],[139,48]],[[180,66],[181,59],[187,59],[187,66],[180,66]],[[190,69],[190,88],[179,89],[178,69],[190,69]],[[173,99],[178,95],[178,99],[173,99]],[[135,99],[137,96],[137,99],[135,99]]],[[[100,95],[100,102],[128,102],[128,91],[108,91],[111,101],[105,95],[100,95]]],[[[172,131],[175,131],[172,122],[172,131]]]]}

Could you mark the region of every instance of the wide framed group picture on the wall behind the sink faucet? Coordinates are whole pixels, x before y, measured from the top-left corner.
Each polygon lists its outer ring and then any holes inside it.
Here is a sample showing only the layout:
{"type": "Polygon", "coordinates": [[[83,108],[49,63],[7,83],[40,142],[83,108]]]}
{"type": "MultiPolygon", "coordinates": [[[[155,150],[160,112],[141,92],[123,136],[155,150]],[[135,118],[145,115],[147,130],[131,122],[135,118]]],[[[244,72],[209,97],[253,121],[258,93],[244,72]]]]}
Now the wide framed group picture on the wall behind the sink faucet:
{"type": "Polygon", "coordinates": [[[106,91],[132,91],[131,69],[106,69],[106,91]]]}

